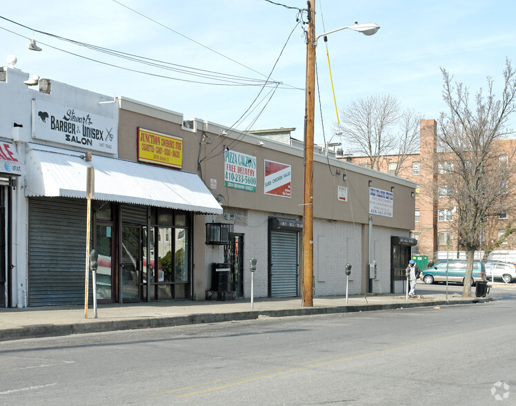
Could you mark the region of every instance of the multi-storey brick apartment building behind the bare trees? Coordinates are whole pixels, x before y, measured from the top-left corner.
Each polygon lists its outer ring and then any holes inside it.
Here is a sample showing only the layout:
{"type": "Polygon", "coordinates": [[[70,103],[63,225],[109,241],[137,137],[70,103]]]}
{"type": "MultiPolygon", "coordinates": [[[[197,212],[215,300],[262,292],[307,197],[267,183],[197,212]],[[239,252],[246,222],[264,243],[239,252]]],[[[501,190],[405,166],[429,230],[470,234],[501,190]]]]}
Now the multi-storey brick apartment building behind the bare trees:
{"type": "MultiPolygon", "coordinates": [[[[501,139],[499,143],[500,161],[506,160],[515,151],[516,139],[501,139]],[[504,153],[506,151],[506,153],[504,153]]],[[[419,154],[406,157],[397,176],[412,180],[418,187],[415,191],[415,229],[411,236],[418,240],[413,253],[428,255],[429,260],[444,258],[466,258],[457,239],[454,203],[439,188],[439,162],[437,154],[437,122],[435,119],[422,119],[420,122],[419,154]]],[[[342,157],[353,164],[367,166],[368,157],[342,157]]],[[[394,174],[399,155],[387,155],[380,161],[379,170],[394,174]]],[[[475,253],[475,258],[482,259],[488,245],[502,235],[510,220],[515,218],[515,210],[508,209],[486,219],[482,251],[475,253]]],[[[489,255],[490,260],[516,262],[516,235],[510,235],[498,249],[489,255]]]]}

